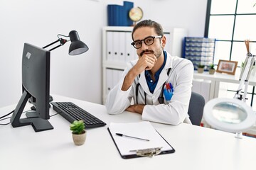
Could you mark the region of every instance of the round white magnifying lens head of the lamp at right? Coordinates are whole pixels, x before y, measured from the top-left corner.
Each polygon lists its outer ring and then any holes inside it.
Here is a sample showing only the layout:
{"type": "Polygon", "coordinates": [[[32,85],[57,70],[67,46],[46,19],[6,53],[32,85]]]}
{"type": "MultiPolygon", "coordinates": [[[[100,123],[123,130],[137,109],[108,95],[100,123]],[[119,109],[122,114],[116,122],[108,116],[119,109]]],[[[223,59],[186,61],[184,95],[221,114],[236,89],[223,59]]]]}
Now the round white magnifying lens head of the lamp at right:
{"type": "Polygon", "coordinates": [[[256,116],[250,106],[235,98],[214,98],[203,109],[206,122],[213,128],[236,133],[242,138],[242,132],[255,124],[256,116]]]}

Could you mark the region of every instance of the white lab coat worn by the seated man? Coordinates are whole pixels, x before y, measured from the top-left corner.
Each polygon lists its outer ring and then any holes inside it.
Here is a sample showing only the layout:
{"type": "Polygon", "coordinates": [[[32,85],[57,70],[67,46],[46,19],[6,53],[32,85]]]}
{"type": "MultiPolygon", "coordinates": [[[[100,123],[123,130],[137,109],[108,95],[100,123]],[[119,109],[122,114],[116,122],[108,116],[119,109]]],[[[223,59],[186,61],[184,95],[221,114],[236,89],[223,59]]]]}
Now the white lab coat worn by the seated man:
{"type": "Polygon", "coordinates": [[[144,91],[146,92],[146,106],[143,109],[142,120],[171,125],[178,125],[182,122],[191,123],[188,116],[188,104],[191,98],[193,79],[192,62],[180,57],[172,57],[167,53],[165,67],[159,75],[159,81],[153,94],[151,94],[146,84],[144,72],[140,74],[140,77],[135,78],[132,86],[127,91],[122,91],[124,77],[136,63],[137,60],[128,63],[128,67],[124,69],[122,74],[122,79],[108,94],[106,101],[107,113],[122,113],[133,101],[136,101],[136,85],[139,81],[137,97],[139,104],[144,104],[144,91]],[[169,68],[171,68],[171,72],[168,76],[169,68]],[[164,103],[160,104],[158,98],[161,94],[161,87],[166,82],[171,82],[174,86],[174,96],[172,96],[171,101],[164,99],[164,103]]]}

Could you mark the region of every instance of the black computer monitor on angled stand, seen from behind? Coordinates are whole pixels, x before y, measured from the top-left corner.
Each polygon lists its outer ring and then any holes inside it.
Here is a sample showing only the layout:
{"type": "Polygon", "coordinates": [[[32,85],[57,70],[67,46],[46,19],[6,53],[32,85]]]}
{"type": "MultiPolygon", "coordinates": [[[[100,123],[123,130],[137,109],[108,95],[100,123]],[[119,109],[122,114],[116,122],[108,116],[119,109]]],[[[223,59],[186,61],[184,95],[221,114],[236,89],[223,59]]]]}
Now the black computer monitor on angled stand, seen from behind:
{"type": "Polygon", "coordinates": [[[53,129],[48,119],[50,96],[50,51],[25,43],[22,55],[22,91],[11,116],[11,125],[16,128],[32,125],[36,132],[53,129]],[[21,118],[30,98],[36,111],[28,111],[27,118],[21,118]]]}

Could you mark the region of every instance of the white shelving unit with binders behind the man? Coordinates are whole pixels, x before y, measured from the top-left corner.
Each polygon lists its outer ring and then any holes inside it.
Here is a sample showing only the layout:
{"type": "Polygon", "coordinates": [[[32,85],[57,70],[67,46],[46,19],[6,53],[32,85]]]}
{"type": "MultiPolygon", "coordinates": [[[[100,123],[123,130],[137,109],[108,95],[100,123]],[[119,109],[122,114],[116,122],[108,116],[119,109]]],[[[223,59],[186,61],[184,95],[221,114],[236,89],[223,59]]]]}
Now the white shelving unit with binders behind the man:
{"type": "MultiPolygon", "coordinates": [[[[119,81],[122,71],[130,60],[137,60],[132,47],[133,27],[108,26],[102,29],[102,103],[107,94],[119,81]]],[[[164,28],[167,43],[164,50],[173,56],[182,56],[183,38],[188,35],[183,28],[164,28]]]]}

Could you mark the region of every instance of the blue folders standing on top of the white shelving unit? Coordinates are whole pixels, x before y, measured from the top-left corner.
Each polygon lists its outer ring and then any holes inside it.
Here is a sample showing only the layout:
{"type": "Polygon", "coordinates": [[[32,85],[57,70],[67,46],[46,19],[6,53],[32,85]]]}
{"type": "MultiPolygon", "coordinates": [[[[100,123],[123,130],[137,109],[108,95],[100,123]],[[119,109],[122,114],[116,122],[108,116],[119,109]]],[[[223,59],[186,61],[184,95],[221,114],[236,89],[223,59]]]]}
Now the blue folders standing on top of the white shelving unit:
{"type": "Polygon", "coordinates": [[[132,26],[132,20],[129,18],[129,11],[134,3],[124,1],[124,5],[107,5],[107,24],[108,26],[132,26]]]}

